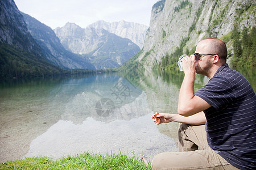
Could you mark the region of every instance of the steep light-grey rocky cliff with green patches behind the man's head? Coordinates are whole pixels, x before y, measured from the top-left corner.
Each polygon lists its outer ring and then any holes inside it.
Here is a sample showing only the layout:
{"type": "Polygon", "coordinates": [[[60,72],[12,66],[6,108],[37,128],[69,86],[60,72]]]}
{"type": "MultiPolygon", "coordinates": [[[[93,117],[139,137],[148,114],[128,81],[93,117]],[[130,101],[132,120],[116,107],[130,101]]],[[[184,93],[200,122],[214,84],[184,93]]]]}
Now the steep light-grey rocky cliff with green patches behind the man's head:
{"type": "Polygon", "coordinates": [[[255,3],[254,0],[159,1],[152,7],[144,48],[133,61],[148,69],[162,67],[164,61],[176,68],[179,56],[193,54],[196,44],[207,37],[224,40],[232,56],[236,35],[233,30],[250,31],[255,27],[255,3]]]}

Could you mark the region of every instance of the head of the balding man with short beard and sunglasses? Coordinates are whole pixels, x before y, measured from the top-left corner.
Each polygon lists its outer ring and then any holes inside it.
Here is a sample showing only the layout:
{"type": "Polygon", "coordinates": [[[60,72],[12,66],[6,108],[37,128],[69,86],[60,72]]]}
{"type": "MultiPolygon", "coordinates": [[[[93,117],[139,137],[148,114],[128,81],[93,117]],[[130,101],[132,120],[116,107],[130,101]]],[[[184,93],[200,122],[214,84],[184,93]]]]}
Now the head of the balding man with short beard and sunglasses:
{"type": "Polygon", "coordinates": [[[218,67],[226,63],[228,51],[226,44],[220,39],[204,39],[196,46],[196,52],[201,55],[197,62],[196,73],[209,76],[218,67]]]}

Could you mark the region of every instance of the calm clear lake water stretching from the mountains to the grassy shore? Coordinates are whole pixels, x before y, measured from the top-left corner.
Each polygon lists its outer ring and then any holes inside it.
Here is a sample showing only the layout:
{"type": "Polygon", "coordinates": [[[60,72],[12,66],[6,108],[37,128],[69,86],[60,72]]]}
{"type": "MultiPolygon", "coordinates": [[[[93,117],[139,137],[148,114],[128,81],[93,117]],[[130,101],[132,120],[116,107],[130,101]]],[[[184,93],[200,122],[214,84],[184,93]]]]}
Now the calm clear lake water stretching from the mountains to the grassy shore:
{"type": "MultiPolygon", "coordinates": [[[[255,91],[255,70],[242,71],[255,91]]],[[[177,113],[182,80],[175,71],[1,82],[0,162],[84,151],[152,159],[177,151],[177,123],[155,125],[151,115],[177,113]]],[[[196,75],[195,90],[207,82],[196,75]]]]}

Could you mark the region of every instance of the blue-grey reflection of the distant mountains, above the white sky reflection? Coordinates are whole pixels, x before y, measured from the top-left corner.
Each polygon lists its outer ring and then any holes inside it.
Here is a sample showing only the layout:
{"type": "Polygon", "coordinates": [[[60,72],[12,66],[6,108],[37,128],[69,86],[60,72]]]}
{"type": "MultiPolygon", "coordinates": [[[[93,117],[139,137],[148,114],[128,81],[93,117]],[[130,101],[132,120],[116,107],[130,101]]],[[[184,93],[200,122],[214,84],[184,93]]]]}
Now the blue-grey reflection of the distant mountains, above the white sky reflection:
{"type": "MultiPolygon", "coordinates": [[[[79,82],[74,81],[68,83],[73,91],[71,89],[67,91],[75,95],[72,97],[68,95],[69,100],[64,105],[65,109],[61,115],[63,120],[71,120],[79,124],[87,117],[93,117],[95,120],[110,122],[117,119],[130,120],[150,112],[146,101],[140,97],[142,90],[120,76],[97,75],[90,79],[80,79],[79,82]],[[112,105],[105,104],[104,99],[111,101],[112,105]],[[141,106],[143,112],[138,111],[138,105],[141,106]],[[108,114],[104,115],[106,111],[108,114]]],[[[61,86],[61,88],[63,92],[68,87],[61,86]]]]}

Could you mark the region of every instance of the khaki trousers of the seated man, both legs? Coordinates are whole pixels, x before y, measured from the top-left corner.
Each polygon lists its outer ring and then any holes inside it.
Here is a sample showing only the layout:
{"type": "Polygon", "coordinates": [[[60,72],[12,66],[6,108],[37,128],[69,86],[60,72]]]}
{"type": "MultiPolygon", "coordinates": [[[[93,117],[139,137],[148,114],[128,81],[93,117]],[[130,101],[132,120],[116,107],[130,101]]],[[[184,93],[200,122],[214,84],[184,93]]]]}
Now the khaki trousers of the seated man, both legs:
{"type": "Polygon", "coordinates": [[[179,125],[179,152],[163,152],[153,169],[238,169],[208,146],[205,125],[179,125]]]}

